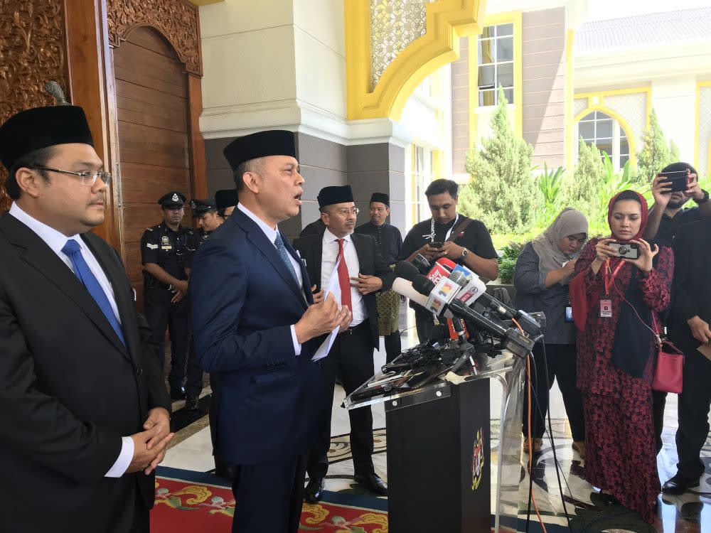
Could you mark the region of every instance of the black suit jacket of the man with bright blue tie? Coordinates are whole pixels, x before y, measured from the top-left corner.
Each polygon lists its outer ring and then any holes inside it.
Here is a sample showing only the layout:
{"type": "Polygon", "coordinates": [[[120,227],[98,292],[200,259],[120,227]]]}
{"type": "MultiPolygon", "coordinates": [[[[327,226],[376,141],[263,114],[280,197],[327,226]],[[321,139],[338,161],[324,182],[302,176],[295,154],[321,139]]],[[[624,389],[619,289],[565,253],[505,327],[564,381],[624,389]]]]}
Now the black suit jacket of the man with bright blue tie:
{"type": "Polygon", "coordinates": [[[0,217],[0,497],[8,531],[123,532],[154,476],[105,478],[121,437],[152,407],[170,409],[151,329],[124,266],[82,235],[114,289],[128,349],[85,287],[15,217],[0,217]]]}

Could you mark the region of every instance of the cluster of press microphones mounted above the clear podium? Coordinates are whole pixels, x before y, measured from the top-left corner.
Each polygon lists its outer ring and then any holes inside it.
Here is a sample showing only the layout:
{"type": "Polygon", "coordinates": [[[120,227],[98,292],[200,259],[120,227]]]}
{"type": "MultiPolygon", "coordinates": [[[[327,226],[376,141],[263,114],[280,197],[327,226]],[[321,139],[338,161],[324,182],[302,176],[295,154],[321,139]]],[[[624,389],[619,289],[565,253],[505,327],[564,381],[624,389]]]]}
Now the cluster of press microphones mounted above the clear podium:
{"type": "Polygon", "coordinates": [[[525,357],[545,327],[542,313],[510,308],[487,294],[473,271],[449,259],[438,259],[432,265],[418,254],[412,262],[397,263],[395,276],[392,290],[447,323],[451,338],[483,344],[485,332],[496,338],[500,348],[525,357]]]}

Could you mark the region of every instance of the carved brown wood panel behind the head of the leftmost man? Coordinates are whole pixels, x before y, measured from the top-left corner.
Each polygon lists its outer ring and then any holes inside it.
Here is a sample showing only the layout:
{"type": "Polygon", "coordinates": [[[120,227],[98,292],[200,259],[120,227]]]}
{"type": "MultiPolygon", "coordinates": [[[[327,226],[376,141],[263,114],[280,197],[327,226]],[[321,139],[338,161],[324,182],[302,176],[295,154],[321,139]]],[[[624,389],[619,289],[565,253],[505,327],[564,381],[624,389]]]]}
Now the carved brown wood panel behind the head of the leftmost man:
{"type": "MultiPolygon", "coordinates": [[[[67,94],[62,0],[0,0],[0,123],[22,109],[52,105],[43,89],[56,80],[67,94]]],[[[0,168],[0,212],[9,208],[0,168]]]]}

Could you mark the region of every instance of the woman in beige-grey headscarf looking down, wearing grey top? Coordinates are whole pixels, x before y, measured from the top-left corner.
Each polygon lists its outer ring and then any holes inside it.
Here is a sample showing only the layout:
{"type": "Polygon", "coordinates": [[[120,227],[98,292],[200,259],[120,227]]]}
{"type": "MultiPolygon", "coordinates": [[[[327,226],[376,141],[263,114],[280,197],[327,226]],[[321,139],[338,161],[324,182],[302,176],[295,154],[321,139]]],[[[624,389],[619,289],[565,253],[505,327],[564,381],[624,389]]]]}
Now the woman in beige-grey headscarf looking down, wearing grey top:
{"type": "MultiPolygon", "coordinates": [[[[557,379],[570,421],[573,448],[583,458],[585,455],[582,397],[575,386],[575,325],[566,318],[566,308],[570,307],[568,284],[587,232],[585,215],[565,208],[545,232],[523,247],[513,271],[515,307],[529,312],[543,311],[547,323],[542,331],[545,350],[541,343],[536,343],[533,348],[535,365],[531,365],[534,394],[530,424],[535,453],[540,452],[545,432],[548,391],[557,379]]],[[[524,390],[523,449],[529,453],[528,386],[524,390]]]]}

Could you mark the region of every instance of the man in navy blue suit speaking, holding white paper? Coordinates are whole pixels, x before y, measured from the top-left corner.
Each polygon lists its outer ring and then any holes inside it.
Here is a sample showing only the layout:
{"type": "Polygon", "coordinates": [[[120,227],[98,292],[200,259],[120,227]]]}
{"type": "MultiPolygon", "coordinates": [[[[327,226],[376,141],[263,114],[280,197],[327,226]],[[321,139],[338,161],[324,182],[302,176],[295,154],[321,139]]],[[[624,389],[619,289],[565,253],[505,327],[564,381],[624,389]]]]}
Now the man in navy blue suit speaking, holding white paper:
{"type": "Polygon", "coordinates": [[[306,269],[277,224],[299,213],[304,178],[294,134],[262,131],[224,151],[239,203],[198,250],[193,334],[203,369],[220,379],[218,449],[235,469],[232,532],[295,533],[306,453],[322,423],[326,333],[346,330],[333,295],[314,304],[306,269]]]}

